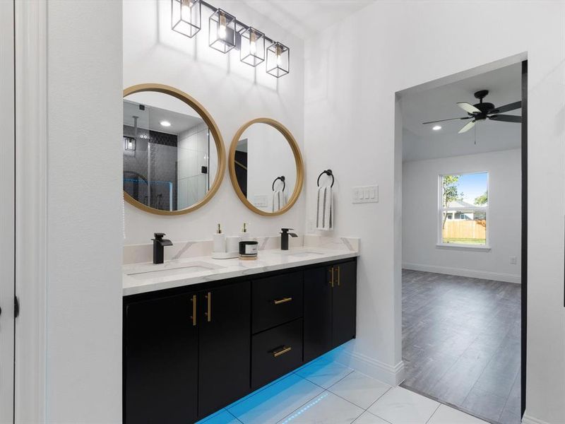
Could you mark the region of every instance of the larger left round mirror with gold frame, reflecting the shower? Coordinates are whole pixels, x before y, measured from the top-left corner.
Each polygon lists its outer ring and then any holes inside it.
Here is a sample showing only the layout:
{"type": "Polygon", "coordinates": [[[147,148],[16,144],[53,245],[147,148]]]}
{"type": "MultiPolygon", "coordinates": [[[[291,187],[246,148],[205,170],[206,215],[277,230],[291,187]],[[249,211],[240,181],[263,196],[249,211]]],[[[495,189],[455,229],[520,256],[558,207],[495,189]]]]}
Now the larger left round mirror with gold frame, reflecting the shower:
{"type": "Polygon", "coordinates": [[[210,113],[163,84],[124,90],[124,199],[142,211],[181,215],[204,206],[225,174],[225,146],[210,113]]]}

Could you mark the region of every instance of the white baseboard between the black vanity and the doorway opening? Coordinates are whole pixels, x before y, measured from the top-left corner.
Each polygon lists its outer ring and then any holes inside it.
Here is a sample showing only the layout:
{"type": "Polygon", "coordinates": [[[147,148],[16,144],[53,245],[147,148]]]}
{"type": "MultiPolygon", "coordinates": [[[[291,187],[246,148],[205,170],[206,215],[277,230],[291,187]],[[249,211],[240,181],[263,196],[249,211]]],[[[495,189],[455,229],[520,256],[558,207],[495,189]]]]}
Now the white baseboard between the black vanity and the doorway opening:
{"type": "Polygon", "coordinates": [[[352,352],[347,349],[336,349],[330,355],[335,362],[347,365],[391,386],[398,386],[405,379],[404,361],[402,360],[392,366],[363,353],[352,352]]]}

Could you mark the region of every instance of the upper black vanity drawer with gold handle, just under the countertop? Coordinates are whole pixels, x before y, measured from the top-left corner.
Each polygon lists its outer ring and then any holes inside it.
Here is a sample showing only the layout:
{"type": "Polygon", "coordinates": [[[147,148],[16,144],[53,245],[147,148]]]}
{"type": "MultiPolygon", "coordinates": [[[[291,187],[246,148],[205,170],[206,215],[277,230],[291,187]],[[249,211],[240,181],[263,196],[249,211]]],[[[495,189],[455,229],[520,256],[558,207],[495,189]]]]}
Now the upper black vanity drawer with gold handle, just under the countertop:
{"type": "Polygon", "coordinates": [[[253,281],[252,305],[253,333],[302,317],[302,271],[253,281]]]}

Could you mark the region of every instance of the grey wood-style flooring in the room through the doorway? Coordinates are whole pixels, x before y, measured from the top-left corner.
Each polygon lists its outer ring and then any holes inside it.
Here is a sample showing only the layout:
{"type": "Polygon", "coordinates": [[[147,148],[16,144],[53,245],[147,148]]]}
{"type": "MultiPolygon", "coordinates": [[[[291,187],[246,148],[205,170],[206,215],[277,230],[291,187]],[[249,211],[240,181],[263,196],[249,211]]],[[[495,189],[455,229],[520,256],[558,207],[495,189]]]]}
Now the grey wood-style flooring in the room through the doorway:
{"type": "Polygon", "coordinates": [[[521,286],[403,270],[402,386],[520,423],[521,286]]]}

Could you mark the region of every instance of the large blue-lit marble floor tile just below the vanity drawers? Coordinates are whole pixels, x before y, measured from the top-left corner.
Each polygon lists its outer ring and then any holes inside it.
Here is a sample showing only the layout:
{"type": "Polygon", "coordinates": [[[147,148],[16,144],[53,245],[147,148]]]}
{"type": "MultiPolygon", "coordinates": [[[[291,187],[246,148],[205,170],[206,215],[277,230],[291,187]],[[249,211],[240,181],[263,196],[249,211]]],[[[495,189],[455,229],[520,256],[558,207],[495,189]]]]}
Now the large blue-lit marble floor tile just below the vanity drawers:
{"type": "Polygon", "coordinates": [[[322,391],[321,387],[307,379],[291,374],[230,407],[229,411],[244,424],[277,423],[322,391]]]}

